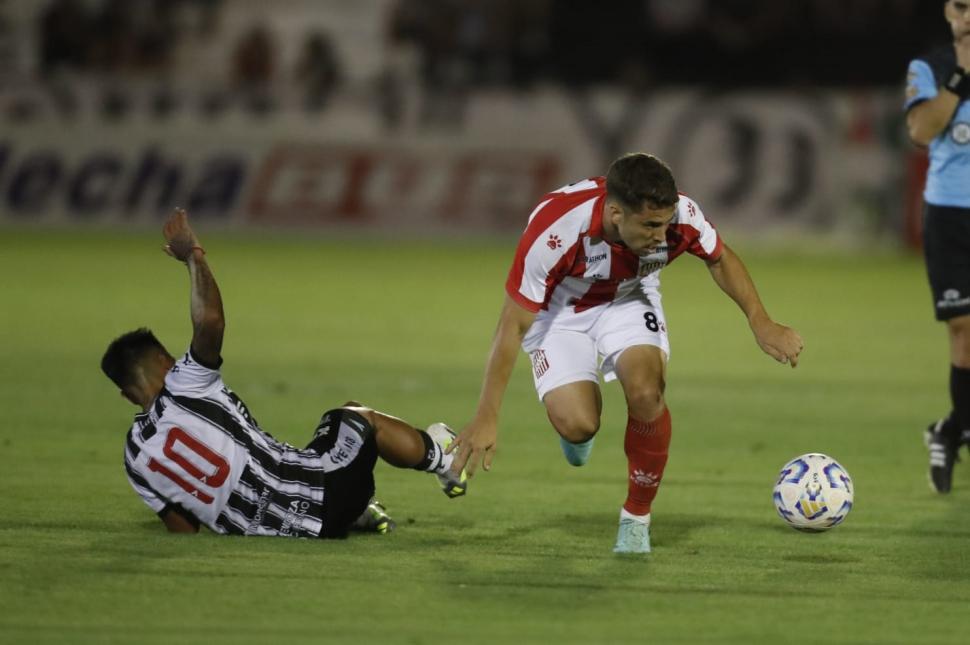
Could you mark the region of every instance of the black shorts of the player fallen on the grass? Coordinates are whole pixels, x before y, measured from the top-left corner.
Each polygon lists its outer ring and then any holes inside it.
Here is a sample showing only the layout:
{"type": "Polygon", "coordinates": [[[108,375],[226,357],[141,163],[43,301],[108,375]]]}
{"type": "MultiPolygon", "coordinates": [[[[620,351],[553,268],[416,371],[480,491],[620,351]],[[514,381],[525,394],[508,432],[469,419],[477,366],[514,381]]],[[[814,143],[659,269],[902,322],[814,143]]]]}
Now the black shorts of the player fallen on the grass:
{"type": "Polygon", "coordinates": [[[307,449],[322,455],[326,468],[320,537],[345,538],[374,496],[374,427],[353,410],[328,410],[307,449]]]}

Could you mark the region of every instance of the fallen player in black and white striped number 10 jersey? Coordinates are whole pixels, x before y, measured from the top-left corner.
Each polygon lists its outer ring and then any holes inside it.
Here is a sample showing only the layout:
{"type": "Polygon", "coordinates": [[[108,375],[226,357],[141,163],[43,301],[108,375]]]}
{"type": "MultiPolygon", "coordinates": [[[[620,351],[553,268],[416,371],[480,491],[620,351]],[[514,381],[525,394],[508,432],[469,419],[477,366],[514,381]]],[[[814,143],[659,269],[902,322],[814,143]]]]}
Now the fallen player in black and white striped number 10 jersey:
{"type": "Polygon", "coordinates": [[[205,251],[177,210],[163,228],[165,251],[191,282],[192,342],[175,359],[147,329],[117,338],[101,369],[141,408],[128,432],[125,470],[145,503],[173,532],[200,525],[222,534],[346,537],[392,526],[372,503],[377,457],[434,473],[445,494],[463,495],[451,472],[454,433],[427,431],[351,402],[326,412],[303,449],[263,431],[222,380],[222,297],[205,251]]]}

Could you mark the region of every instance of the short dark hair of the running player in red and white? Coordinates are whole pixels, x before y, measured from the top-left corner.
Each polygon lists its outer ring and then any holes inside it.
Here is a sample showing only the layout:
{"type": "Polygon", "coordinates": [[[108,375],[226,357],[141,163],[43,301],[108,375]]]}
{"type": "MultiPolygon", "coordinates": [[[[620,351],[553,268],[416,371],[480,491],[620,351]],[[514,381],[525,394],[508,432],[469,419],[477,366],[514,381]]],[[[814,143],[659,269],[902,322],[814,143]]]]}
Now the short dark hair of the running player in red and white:
{"type": "Polygon", "coordinates": [[[668,208],[677,203],[677,184],[670,167],[644,152],[623,155],[606,172],[606,196],[626,211],[637,212],[644,205],[668,208]]]}

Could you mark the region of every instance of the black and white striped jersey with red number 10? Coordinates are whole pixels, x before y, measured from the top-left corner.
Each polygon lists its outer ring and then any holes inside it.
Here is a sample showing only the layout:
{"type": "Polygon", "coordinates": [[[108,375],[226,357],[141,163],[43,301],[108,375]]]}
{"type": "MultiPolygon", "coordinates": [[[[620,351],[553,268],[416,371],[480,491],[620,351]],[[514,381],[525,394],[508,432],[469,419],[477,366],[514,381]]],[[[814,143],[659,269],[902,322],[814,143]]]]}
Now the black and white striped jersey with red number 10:
{"type": "MultiPolygon", "coordinates": [[[[345,431],[354,434],[341,425],[345,431]]],[[[360,442],[349,447],[345,461],[360,442]]],[[[135,416],[125,447],[128,480],[153,511],[181,507],[213,531],[237,535],[319,535],[324,472],[341,465],[262,431],[218,369],[191,350],[151,409],[135,416]]]]}

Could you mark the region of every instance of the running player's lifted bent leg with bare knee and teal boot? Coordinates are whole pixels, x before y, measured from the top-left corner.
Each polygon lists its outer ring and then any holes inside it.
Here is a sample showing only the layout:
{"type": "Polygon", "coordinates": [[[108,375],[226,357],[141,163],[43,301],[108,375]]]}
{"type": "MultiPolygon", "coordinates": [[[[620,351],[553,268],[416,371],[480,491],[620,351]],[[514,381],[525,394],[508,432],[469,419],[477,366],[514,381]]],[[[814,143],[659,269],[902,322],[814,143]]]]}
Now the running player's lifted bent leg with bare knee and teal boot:
{"type": "Polygon", "coordinates": [[[582,466],[589,461],[599,431],[603,397],[593,381],[576,381],[554,388],[542,398],[566,461],[582,466]]]}

